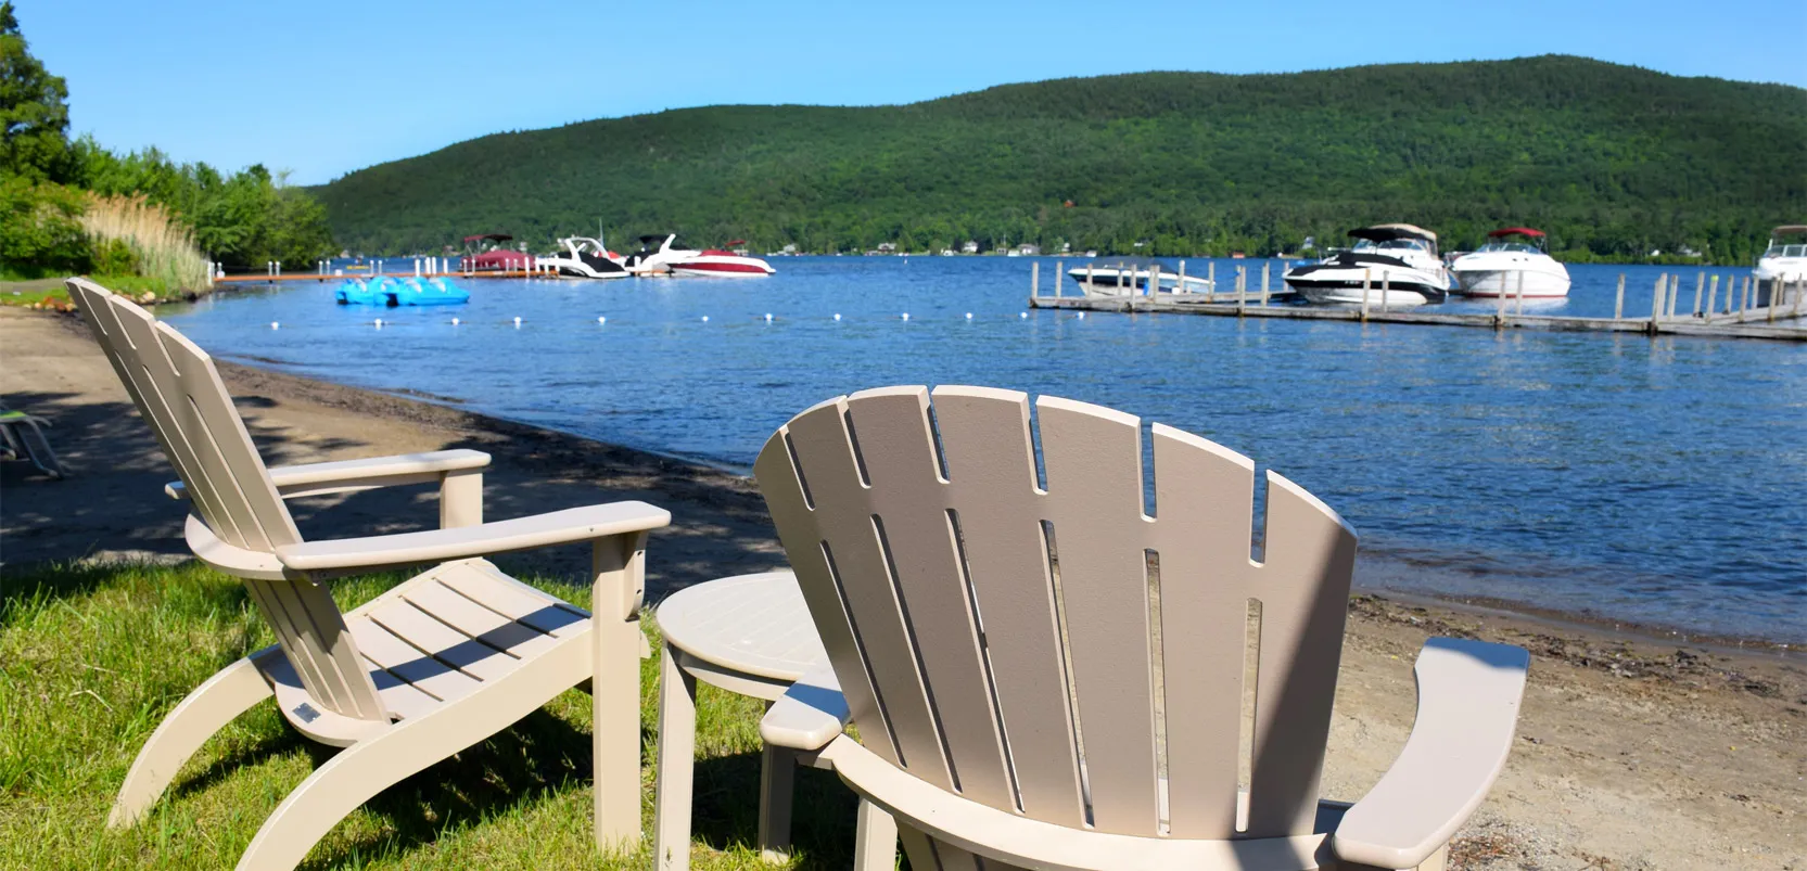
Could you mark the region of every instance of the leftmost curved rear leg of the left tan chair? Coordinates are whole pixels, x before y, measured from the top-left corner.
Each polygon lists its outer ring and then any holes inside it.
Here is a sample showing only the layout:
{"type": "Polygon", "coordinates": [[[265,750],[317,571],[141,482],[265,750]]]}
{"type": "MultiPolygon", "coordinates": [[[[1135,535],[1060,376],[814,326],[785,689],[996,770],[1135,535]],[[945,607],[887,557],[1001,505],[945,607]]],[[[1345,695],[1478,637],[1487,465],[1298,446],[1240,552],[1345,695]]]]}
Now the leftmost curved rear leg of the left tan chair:
{"type": "MultiPolygon", "coordinates": [[[[132,770],[119,786],[107,826],[121,828],[137,819],[157,802],[163,790],[183,770],[183,763],[201,750],[201,745],[215,732],[244,714],[251,705],[273,696],[269,681],[257,669],[257,658],[269,656],[275,649],[258,651],[228,665],[201,687],[195,687],[170,716],[150,734],[150,741],[137,752],[132,770]]],[[[280,652],[276,654],[280,656],[280,652]]]]}

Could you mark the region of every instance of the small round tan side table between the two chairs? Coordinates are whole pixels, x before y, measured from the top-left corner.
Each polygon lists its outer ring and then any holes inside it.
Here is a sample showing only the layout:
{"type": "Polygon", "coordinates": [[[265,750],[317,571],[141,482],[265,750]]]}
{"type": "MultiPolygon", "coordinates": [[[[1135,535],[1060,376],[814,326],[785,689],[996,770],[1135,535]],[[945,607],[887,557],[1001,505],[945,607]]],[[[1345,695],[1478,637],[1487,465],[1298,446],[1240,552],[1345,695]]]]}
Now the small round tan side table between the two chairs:
{"type": "MultiPolygon", "coordinates": [[[[660,604],[660,770],[654,786],[652,855],[660,871],[690,867],[690,801],[696,772],[696,681],[777,701],[799,678],[828,663],[797,576],[737,575],[672,593],[660,604]]],[[[790,848],[797,754],[766,746],[759,772],[759,851],[781,860],[790,848]]],[[[893,837],[885,820],[860,808],[860,840],[893,837]],[[871,829],[871,831],[867,831],[871,829]]],[[[876,848],[876,844],[875,844],[876,848]]],[[[860,862],[866,866],[866,862],[860,862]]],[[[876,866],[875,866],[876,867],[876,866]]]]}

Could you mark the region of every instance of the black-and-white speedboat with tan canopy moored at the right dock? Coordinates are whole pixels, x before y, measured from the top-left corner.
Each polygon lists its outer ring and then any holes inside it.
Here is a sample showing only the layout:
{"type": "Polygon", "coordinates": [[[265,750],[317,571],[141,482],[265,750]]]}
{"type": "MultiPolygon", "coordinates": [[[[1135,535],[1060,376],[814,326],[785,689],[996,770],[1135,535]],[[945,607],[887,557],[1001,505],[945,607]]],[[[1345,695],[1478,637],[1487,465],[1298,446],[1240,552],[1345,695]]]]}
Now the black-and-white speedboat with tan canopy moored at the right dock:
{"type": "Polygon", "coordinates": [[[1449,298],[1449,271],[1437,258],[1437,233],[1411,224],[1377,224],[1350,229],[1350,237],[1353,248],[1287,269],[1287,286],[1317,304],[1424,305],[1449,298]]]}

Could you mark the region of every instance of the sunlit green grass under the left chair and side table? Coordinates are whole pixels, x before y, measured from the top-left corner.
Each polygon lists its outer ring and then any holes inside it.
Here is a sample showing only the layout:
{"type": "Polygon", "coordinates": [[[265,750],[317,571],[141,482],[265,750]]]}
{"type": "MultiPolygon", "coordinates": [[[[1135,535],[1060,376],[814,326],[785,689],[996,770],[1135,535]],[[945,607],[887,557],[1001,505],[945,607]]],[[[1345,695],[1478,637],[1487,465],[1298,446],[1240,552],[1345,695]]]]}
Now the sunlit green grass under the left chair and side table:
{"type": "MultiPolygon", "coordinates": [[[[336,582],[354,607],[403,576],[336,582]]],[[[526,578],[587,605],[589,589],[526,578]]],[[[656,629],[645,620],[654,649],[656,629]]],[[[229,867],[332,750],[255,707],[188,763],[137,826],[105,828],[132,757],[220,667],[273,643],[244,587],[199,564],[7,571],[0,578],[0,867],[229,867]]],[[[656,660],[641,663],[638,855],[591,840],[589,696],[576,690],[372,799],[304,867],[649,867],[656,660]]],[[[754,848],[763,703],[701,687],[692,866],[764,869],[754,848]]],[[[846,867],[853,795],[801,770],[784,867],[846,867]]]]}

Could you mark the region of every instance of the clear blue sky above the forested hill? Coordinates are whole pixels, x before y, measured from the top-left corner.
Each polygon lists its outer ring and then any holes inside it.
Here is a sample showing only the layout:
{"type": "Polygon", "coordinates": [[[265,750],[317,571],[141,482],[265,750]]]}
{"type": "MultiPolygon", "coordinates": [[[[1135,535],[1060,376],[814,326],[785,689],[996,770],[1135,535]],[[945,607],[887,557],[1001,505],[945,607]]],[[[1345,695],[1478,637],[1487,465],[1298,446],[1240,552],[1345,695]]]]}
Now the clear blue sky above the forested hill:
{"type": "Polygon", "coordinates": [[[1585,54],[1807,87],[1800,0],[585,4],[18,0],[70,126],[314,184],[499,130],[712,103],[909,103],[1140,70],[1585,54]]]}

